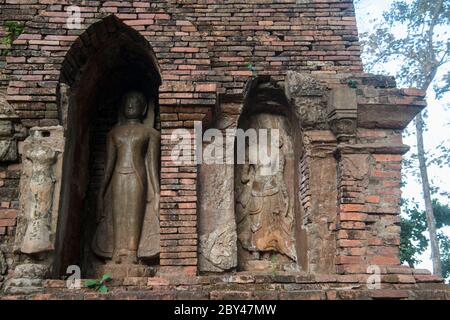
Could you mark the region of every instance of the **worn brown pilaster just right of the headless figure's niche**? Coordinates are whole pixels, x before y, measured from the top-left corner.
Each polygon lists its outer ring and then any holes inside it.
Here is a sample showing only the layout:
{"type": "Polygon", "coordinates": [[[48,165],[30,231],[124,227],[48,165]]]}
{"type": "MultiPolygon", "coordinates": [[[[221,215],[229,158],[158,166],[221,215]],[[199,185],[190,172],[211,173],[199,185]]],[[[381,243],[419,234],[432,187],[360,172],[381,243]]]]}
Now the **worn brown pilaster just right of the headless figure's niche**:
{"type": "Polygon", "coordinates": [[[311,273],[334,273],[337,172],[336,138],[329,130],[305,131],[302,161],[303,228],[307,239],[307,269],[311,273]]]}

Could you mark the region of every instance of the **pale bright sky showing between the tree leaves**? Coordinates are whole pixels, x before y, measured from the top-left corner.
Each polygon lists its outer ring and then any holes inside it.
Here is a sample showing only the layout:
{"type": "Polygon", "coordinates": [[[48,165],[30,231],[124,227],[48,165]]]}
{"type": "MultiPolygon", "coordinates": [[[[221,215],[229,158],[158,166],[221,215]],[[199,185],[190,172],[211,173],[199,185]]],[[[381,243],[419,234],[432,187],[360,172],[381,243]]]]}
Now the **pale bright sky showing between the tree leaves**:
{"type": "MultiPolygon", "coordinates": [[[[374,30],[374,19],[381,18],[383,11],[389,9],[392,0],[360,0],[356,4],[356,16],[358,21],[358,28],[360,32],[367,32],[374,30]]],[[[450,29],[450,28],[448,28],[450,29]]],[[[450,31],[450,30],[449,30],[450,31]]],[[[404,29],[399,28],[397,33],[399,35],[404,32],[404,29]]],[[[386,75],[394,75],[396,68],[401,62],[395,62],[389,64],[386,70],[382,73],[386,75]]],[[[443,74],[447,73],[450,69],[450,65],[446,65],[442,68],[440,73],[437,75],[439,79],[443,74]]],[[[435,99],[435,94],[432,89],[427,92],[428,101],[428,119],[427,128],[428,130],[424,134],[425,149],[427,154],[433,154],[436,152],[437,147],[445,144],[450,148],[450,94],[447,93],[441,100],[435,99]]],[[[414,125],[410,124],[408,127],[408,132],[414,132],[414,125]]],[[[405,135],[404,143],[411,146],[411,151],[406,155],[411,155],[415,152],[416,148],[416,137],[414,134],[409,136],[405,135]]],[[[428,174],[432,185],[439,186],[442,191],[450,192],[450,168],[439,168],[437,166],[430,166],[428,168],[428,174]]],[[[408,178],[406,181],[406,186],[403,188],[403,197],[411,200],[415,200],[420,206],[424,208],[423,198],[422,198],[422,188],[418,179],[414,177],[408,178]]],[[[447,197],[439,197],[442,203],[450,204],[450,200],[447,197]]],[[[450,227],[447,227],[446,233],[450,235],[450,227]]],[[[418,268],[426,268],[432,270],[432,264],[430,259],[430,251],[428,250],[424,253],[420,259],[418,268]]]]}

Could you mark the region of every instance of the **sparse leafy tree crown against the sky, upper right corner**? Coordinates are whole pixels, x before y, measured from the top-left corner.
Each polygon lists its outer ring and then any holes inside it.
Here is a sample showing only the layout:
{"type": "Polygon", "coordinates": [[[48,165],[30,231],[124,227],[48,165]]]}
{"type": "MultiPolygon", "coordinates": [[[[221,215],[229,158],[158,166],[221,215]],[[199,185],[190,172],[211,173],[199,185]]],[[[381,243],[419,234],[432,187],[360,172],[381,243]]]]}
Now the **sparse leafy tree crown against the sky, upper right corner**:
{"type": "MultiPolygon", "coordinates": [[[[368,68],[401,61],[396,76],[402,85],[427,89],[450,59],[450,2],[394,0],[383,18],[374,32],[362,35],[368,68]]],[[[448,77],[435,84],[439,95],[449,91],[448,77]]]]}

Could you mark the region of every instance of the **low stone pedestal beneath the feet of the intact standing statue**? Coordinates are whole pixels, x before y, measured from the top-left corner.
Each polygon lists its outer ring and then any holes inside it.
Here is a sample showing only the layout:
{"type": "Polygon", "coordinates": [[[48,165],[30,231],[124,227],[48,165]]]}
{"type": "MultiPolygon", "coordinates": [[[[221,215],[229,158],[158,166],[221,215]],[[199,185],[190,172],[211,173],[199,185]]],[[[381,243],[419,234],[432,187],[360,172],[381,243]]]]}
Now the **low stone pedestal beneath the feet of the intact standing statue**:
{"type": "Polygon", "coordinates": [[[113,279],[153,277],[157,272],[157,268],[139,264],[106,263],[96,267],[95,278],[101,278],[108,272],[111,272],[113,279]]]}

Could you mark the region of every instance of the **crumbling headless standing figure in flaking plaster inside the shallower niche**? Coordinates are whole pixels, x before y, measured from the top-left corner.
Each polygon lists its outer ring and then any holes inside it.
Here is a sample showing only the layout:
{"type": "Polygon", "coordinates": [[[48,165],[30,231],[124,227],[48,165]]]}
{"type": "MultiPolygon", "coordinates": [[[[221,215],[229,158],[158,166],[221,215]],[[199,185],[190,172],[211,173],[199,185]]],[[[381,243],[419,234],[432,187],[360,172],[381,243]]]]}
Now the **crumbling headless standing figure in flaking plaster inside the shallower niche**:
{"type": "MultiPolygon", "coordinates": [[[[293,145],[283,116],[256,114],[249,128],[278,129],[278,170],[267,165],[244,164],[236,174],[236,221],[239,267],[244,270],[295,268],[293,145]]],[[[271,154],[273,150],[268,153],[271,154]]],[[[274,150],[276,151],[276,150],[274,150]]]]}

